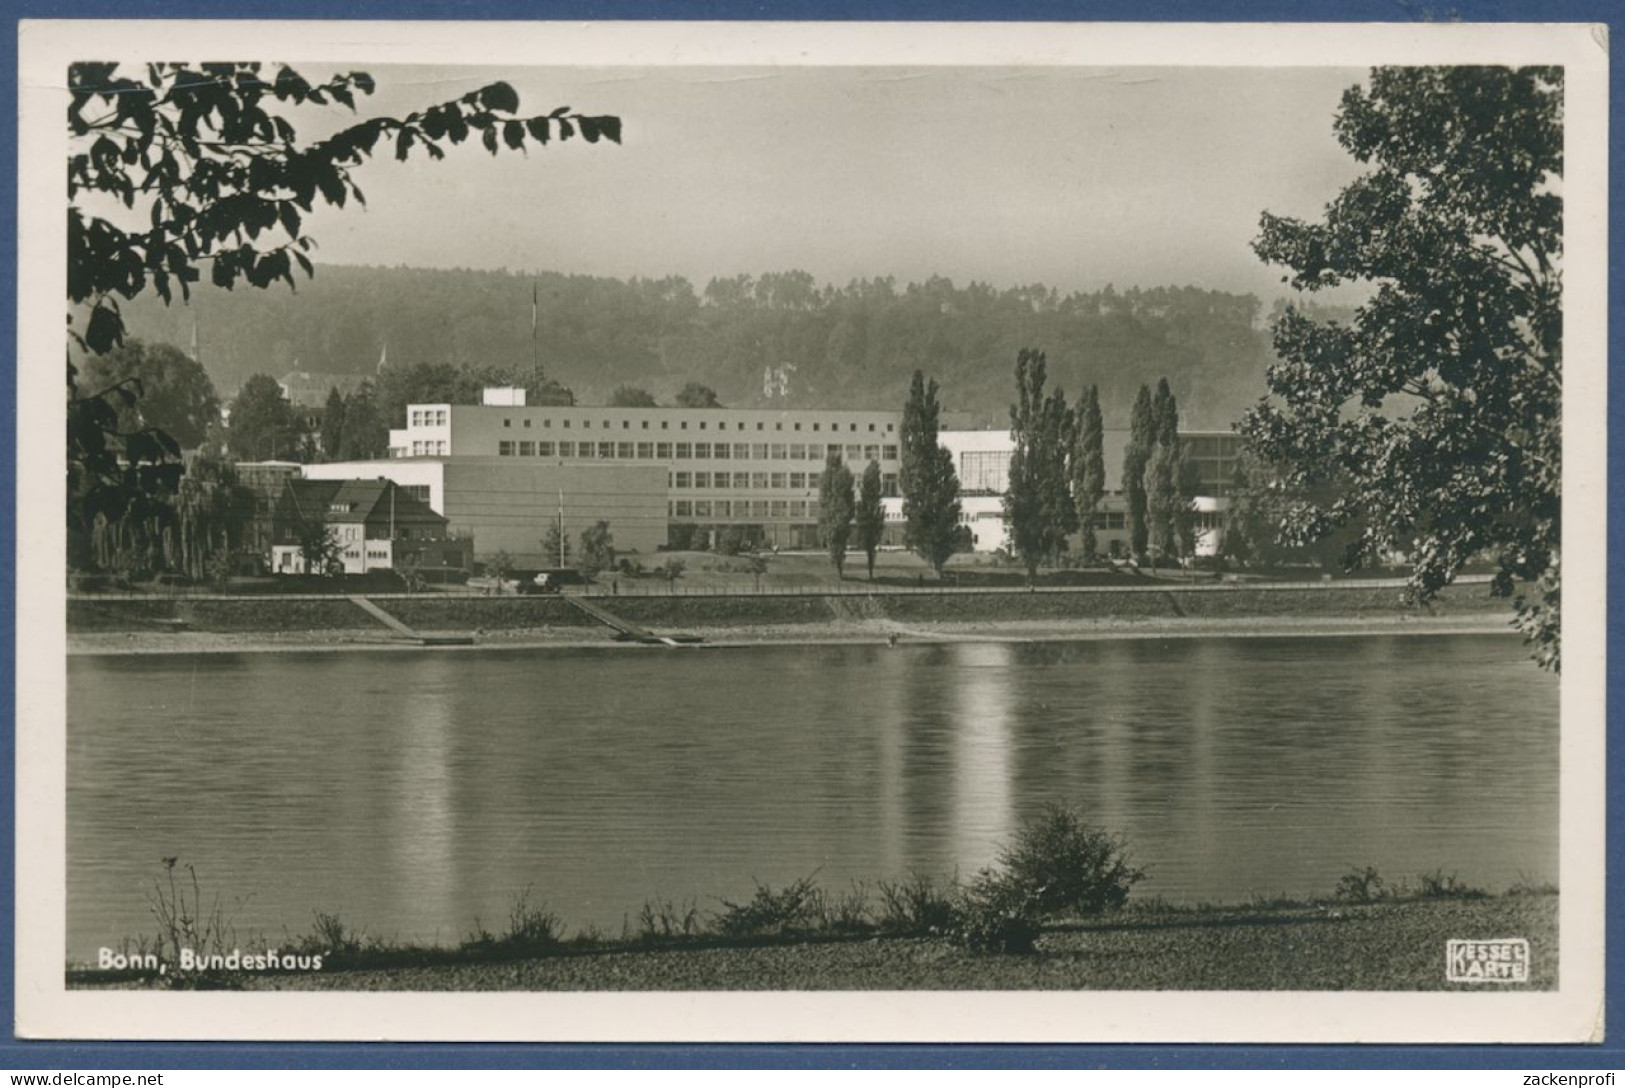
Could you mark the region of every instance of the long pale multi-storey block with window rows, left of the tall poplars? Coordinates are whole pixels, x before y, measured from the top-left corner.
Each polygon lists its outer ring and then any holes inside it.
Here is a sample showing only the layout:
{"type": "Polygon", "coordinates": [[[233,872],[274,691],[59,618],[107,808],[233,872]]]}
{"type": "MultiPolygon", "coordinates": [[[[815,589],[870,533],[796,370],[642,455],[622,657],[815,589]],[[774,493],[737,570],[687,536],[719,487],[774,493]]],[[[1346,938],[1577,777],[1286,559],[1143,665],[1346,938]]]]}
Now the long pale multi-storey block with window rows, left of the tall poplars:
{"type": "Polygon", "coordinates": [[[853,466],[879,461],[882,490],[895,495],[900,425],[894,411],[526,406],[522,391],[489,390],[484,404],[413,404],[375,471],[427,487],[481,554],[536,550],[559,507],[572,536],[609,521],[621,550],[653,550],[670,526],[739,526],[765,546],[814,547],[830,451],[853,466]],[[497,490],[500,512],[478,499],[497,490]],[[507,544],[491,531],[499,516],[507,544]]]}

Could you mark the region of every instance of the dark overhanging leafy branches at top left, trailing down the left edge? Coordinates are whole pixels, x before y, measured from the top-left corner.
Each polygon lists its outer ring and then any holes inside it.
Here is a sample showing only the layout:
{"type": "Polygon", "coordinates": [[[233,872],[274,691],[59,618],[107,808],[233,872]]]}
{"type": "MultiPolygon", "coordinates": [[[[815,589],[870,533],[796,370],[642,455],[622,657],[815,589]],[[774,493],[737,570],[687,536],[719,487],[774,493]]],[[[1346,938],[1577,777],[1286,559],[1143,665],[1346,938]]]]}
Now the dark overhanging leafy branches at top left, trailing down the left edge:
{"type": "MultiPolygon", "coordinates": [[[[476,136],[488,151],[580,135],[619,141],[616,117],[569,107],[522,117],[518,96],[492,83],[403,119],[372,117],[299,143],[289,114],[370,94],[366,73],[310,83],[286,65],[117,63],[68,67],[68,336],[101,356],[125,338],[122,302],[151,291],[188,297],[208,270],[214,287],[294,286],[312,274],[304,216],[362,201],[351,171],[387,146],[431,159],[476,136]]],[[[94,526],[148,516],[180,481],[180,443],[162,427],[122,430],[143,383],[81,393],[68,362],[68,560],[88,559],[94,526]]]]}

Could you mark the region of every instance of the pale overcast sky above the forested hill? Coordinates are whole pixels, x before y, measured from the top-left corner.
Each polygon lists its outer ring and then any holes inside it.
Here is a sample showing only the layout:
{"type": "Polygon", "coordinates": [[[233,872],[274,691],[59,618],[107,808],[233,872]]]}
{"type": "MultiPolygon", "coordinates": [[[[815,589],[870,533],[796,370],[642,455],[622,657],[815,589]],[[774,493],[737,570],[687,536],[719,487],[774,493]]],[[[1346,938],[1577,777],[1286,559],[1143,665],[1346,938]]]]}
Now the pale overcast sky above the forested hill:
{"type": "Polygon", "coordinates": [[[364,112],[504,78],[525,112],[618,114],[624,143],[369,162],[367,209],[310,224],[328,263],[1272,297],[1259,211],[1318,216],[1360,169],[1331,132],[1350,68],[367,70],[364,112]]]}

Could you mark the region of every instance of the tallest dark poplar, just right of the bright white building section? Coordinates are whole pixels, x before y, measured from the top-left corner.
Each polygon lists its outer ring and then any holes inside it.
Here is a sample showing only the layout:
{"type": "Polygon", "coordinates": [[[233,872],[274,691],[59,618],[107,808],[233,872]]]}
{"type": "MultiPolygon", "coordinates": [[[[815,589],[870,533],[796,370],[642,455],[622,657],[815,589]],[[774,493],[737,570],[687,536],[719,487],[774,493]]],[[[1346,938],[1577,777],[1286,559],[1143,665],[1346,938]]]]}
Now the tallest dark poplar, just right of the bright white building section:
{"type": "Polygon", "coordinates": [[[1011,546],[1027,567],[1051,562],[1077,528],[1066,456],[1072,447],[1074,419],[1061,390],[1043,391],[1046,364],[1042,351],[1022,348],[1016,356],[1016,403],[1011,404],[1011,468],[1004,490],[1004,518],[1011,546]]]}

